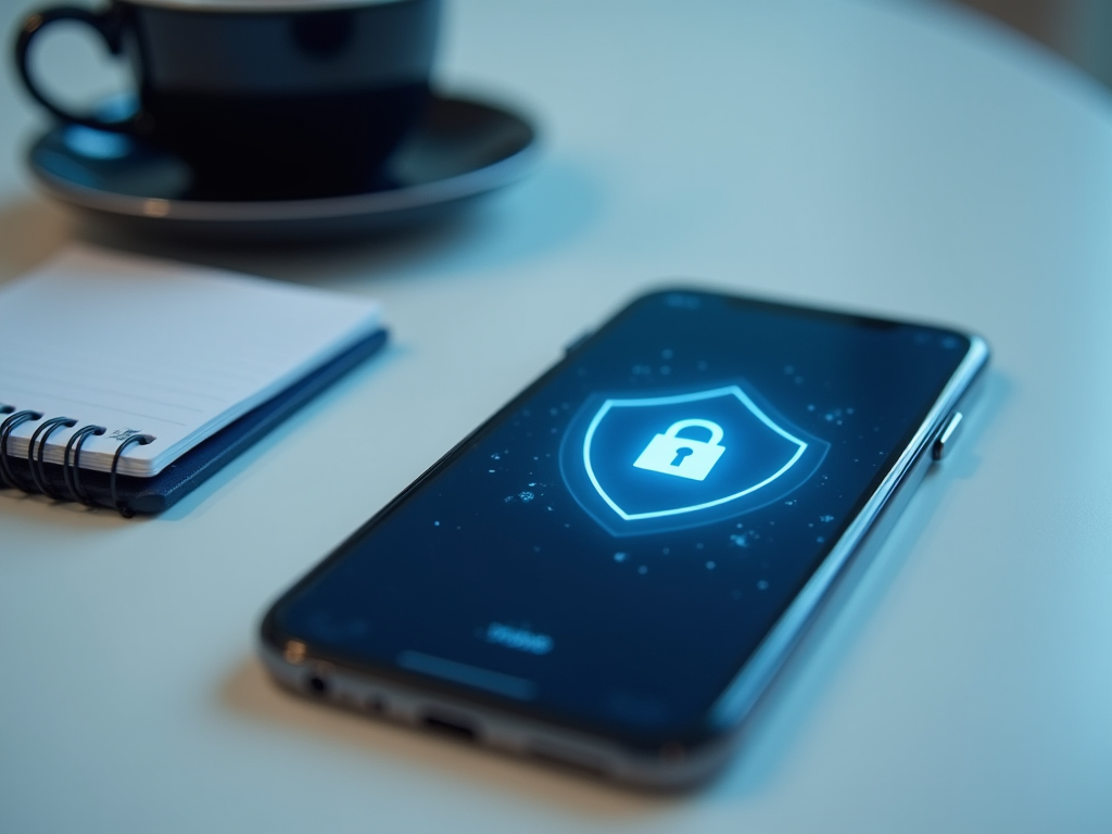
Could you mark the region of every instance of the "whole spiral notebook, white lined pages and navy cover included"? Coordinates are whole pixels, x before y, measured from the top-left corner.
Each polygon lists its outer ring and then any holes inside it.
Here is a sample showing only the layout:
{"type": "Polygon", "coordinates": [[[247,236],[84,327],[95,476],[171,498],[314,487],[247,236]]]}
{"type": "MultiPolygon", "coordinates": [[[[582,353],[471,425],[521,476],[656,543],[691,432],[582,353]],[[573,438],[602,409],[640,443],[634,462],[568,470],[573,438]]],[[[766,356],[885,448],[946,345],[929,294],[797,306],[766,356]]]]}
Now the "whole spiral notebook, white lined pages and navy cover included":
{"type": "Polygon", "coordinates": [[[373,299],[72,247],[0,287],[0,479],[165,509],[385,338],[373,299]]]}

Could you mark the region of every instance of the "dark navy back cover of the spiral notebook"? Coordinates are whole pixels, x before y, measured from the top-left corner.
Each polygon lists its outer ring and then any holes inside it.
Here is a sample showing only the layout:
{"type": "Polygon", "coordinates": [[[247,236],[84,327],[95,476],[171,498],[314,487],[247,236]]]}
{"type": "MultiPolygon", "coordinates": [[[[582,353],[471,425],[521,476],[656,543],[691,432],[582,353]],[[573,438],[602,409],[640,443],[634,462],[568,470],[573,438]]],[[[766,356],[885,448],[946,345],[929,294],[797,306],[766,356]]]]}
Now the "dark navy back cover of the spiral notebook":
{"type": "MultiPolygon", "coordinates": [[[[386,344],[386,330],[376,330],[281,394],[202,440],[155,477],[118,476],[117,496],[133,513],[160,513],[170,507],[320,391],[377,353],[386,344]]],[[[9,464],[21,485],[29,492],[38,492],[31,486],[31,470],[27,459],[12,457],[9,464]]],[[[69,500],[62,467],[59,464],[44,464],[42,468],[50,492],[56,497],[69,500]]],[[[81,489],[92,503],[112,506],[108,473],[82,469],[81,489]]]]}

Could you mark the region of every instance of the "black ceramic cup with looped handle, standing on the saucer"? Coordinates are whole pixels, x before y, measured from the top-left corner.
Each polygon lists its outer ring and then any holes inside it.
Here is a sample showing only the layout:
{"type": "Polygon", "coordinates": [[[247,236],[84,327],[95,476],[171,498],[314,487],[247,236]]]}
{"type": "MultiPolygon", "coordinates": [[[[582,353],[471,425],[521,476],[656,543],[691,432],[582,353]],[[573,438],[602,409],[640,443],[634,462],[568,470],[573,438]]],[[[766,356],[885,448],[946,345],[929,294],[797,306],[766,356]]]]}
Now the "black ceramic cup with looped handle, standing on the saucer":
{"type": "Polygon", "coordinates": [[[420,118],[440,0],[110,0],[31,14],[16,42],[28,91],[58,118],[179,155],[197,190],[231,200],[358,193],[420,118]],[[106,121],[32,75],[51,23],[91,27],[131,64],[138,110],[106,121]]]}

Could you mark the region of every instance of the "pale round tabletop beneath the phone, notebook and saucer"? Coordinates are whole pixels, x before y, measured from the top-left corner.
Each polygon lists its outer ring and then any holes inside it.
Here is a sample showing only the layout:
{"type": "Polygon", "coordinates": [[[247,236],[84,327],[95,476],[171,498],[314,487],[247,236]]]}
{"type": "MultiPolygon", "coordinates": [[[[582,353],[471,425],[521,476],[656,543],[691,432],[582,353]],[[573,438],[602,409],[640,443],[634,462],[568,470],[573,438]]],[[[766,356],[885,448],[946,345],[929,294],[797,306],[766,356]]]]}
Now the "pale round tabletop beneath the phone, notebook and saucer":
{"type": "MultiPolygon", "coordinates": [[[[79,33],[42,60],[59,85],[103,63],[79,33]]],[[[0,831],[1112,828],[1109,92],[919,2],[467,0],[439,80],[545,135],[528,180],[456,221],[331,249],[109,241],[377,296],[396,341],[160,517],[0,492],[0,831]],[[961,445],[722,778],[633,793],[276,691],[269,600],[675,276],[994,349],[961,445]]],[[[0,113],[8,280],[105,238],[31,188],[44,121],[7,63],[0,113]]]]}

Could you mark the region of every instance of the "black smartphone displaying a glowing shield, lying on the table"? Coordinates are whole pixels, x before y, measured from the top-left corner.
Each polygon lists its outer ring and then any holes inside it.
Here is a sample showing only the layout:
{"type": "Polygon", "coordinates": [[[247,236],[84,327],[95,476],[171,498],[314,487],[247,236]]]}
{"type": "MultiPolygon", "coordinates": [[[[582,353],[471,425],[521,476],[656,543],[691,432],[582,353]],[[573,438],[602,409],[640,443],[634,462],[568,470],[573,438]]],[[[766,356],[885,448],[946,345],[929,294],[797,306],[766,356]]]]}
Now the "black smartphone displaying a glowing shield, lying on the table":
{"type": "Polygon", "coordinates": [[[929,325],[637,298],[281,596],[262,658],[296,693],[696,783],[987,358],[929,325]]]}

